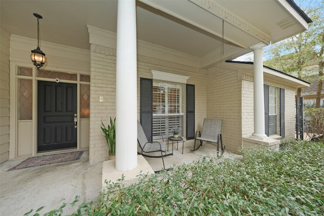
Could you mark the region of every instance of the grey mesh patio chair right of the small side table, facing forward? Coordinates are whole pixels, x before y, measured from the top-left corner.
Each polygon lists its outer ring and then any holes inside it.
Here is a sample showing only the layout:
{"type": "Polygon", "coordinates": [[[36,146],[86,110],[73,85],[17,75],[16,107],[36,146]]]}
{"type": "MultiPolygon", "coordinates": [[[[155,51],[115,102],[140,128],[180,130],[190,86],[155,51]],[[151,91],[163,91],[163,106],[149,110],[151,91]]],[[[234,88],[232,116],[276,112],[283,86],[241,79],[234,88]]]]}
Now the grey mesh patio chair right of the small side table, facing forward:
{"type": "Polygon", "coordinates": [[[212,118],[205,118],[203,123],[203,129],[200,131],[196,131],[194,136],[194,144],[193,149],[190,151],[196,151],[203,145],[203,141],[217,143],[217,157],[223,155],[225,146],[223,147],[223,140],[222,140],[222,119],[212,119],[212,118]],[[200,141],[200,145],[196,148],[196,140],[200,141]],[[219,156],[219,144],[221,144],[222,154],[219,156]]]}

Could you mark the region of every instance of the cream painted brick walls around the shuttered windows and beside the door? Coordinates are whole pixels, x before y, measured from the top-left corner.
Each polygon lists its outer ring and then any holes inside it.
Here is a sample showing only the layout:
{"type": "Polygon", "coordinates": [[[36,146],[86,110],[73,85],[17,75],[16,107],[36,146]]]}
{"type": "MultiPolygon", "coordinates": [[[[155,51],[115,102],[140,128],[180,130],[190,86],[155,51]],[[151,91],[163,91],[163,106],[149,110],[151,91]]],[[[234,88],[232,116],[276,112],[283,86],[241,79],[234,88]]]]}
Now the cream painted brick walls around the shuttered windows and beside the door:
{"type": "MultiPolygon", "coordinates": [[[[101,120],[107,124],[115,116],[115,59],[116,51],[91,45],[91,116],[90,162],[107,160],[108,148],[100,129],[101,120]],[[104,102],[99,103],[99,96],[104,102]]],[[[237,70],[213,67],[198,69],[183,64],[138,56],[138,119],[140,117],[140,77],[152,78],[151,70],[190,76],[195,85],[195,130],[201,130],[206,117],[223,119],[222,136],[226,150],[237,151],[242,137],[254,132],[253,76],[242,78],[237,70]]],[[[282,87],[281,87],[282,88],[282,87]]],[[[295,92],[286,89],[286,137],[294,135],[295,92]]],[[[188,144],[191,144],[188,141],[188,144]]]]}

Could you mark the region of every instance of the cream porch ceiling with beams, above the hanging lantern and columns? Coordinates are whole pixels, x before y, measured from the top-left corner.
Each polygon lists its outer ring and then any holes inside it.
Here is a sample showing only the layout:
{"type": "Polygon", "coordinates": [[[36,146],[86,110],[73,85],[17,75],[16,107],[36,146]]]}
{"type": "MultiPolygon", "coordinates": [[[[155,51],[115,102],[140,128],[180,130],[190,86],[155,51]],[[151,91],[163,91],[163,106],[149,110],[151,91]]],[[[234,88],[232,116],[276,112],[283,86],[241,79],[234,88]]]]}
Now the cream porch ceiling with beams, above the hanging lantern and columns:
{"type": "MultiPolygon", "coordinates": [[[[260,41],[273,43],[308,27],[286,0],[140,0],[136,4],[139,40],[198,57],[201,67],[236,58],[251,52],[249,47],[260,41]],[[291,26],[284,29],[277,23],[285,19],[291,26]]],[[[40,39],[56,44],[89,50],[87,25],[116,32],[115,0],[2,0],[0,8],[3,29],[35,39],[32,13],[41,14],[40,39]]]]}

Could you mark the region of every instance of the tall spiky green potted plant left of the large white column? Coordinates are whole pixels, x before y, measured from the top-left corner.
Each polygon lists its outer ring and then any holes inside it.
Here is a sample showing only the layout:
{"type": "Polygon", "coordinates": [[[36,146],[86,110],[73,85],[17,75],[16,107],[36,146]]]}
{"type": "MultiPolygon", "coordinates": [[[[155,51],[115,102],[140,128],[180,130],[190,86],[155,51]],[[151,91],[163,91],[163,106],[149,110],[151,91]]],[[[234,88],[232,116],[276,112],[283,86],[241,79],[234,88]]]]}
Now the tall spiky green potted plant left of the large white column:
{"type": "Polygon", "coordinates": [[[109,150],[109,159],[112,160],[115,158],[116,153],[116,131],[115,131],[115,120],[116,118],[111,119],[110,117],[110,125],[106,127],[104,123],[101,121],[101,129],[106,138],[106,142],[109,150]]]}

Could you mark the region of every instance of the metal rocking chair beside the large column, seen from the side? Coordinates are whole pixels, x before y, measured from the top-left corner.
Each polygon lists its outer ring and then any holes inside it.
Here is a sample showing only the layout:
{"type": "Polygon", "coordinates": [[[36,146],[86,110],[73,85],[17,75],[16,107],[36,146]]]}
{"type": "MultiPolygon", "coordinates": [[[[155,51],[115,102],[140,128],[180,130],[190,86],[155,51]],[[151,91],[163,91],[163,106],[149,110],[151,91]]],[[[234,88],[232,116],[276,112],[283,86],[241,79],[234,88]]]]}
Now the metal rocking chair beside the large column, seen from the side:
{"type": "Polygon", "coordinates": [[[137,152],[138,154],[141,154],[145,157],[161,157],[163,161],[163,167],[166,168],[164,165],[164,155],[163,152],[165,152],[165,156],[167,156],[166,152],[166,143],[165,142],[149,142],[145,136],[145,133],[143,131],[142,125],[139,121],[137,121],[137,141],[141,148],[141,152],[137,152]],[[152,152],[161,152],[161,156],[151,156],[146,155],[143,153],[152,153],[152,152]]]}

